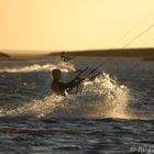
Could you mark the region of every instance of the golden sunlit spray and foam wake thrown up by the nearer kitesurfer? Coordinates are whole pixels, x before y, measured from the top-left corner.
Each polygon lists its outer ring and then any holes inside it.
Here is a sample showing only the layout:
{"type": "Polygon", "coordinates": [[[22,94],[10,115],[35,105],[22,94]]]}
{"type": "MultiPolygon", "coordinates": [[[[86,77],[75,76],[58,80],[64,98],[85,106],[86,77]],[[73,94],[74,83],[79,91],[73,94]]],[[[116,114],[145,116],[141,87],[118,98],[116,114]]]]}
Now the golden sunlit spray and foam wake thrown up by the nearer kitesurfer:
{"type": "Polygon", "coordinates": [[[119,118],[143,119],[130,111],[130,91],[103,73],[94,81],[85,81],[77,95],[51,95],[13,110],[1,109],[1,116],[32,116],[37,118],[119,118]]]}

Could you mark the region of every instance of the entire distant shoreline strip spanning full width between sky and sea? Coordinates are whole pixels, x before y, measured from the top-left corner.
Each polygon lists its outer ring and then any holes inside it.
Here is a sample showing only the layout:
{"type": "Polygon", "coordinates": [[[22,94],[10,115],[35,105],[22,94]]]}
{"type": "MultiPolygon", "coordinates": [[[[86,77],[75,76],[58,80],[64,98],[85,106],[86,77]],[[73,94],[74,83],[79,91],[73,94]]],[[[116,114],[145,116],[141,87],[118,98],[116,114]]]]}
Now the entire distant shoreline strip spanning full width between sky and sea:
{"type": "MultiPolygon", "coordinates": [[[[154,61],[154,48],[129,48],[129,50],[91,50],[91,51],[62,51],[68,56],[75,57],[100,57],[110,59],[135,59],[154,61]]],[[[0,62],[2,61],[31,61],[51,57],[59,57],[62,52],[52,52],[48,54],[6,54],[0,52],[0,62]]]]}

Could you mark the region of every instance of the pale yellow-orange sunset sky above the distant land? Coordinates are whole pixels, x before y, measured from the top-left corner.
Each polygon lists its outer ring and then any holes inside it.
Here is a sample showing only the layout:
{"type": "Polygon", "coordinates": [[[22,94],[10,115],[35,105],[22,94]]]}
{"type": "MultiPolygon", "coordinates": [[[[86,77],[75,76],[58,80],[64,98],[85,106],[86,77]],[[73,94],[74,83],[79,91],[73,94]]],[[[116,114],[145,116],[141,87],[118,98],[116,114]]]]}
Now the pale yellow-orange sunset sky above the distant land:
{"type": "Polygon", "coordinates": [[[0,0],[0,51],[12,54],[154,47],[153,25],[154,0],[0,0]]]}

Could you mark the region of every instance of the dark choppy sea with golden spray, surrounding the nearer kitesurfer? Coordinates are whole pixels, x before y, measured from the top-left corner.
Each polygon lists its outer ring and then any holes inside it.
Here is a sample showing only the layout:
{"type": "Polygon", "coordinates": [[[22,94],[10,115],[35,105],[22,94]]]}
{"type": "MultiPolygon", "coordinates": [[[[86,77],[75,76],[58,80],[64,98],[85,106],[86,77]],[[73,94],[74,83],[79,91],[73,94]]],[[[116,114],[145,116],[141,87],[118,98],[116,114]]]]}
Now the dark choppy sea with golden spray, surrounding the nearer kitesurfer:
{"type": "Polygon", "coordinates": [[[154,62],[0,62],[0,154],[154,154],[154,62]],[[67,97],[51,90],[78,69],[101,72],[67,97]]]}

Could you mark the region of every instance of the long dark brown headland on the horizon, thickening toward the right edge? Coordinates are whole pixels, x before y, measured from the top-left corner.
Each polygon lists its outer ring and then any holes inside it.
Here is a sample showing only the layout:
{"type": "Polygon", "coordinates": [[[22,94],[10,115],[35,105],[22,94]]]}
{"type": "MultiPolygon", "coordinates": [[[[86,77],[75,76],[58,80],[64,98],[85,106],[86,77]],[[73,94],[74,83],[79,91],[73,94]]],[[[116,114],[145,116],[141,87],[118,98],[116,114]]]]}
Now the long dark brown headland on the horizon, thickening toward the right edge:
{"type": "MultiPolygon", "coordinates": [[[[65,51],[63,51],[65,52],[65,51]]],[[[140,58],[143,61],[154,59],[154,48],[129,48],[129,50],[91,50],[65,52],[68,56],[105,57],[105,58],[140,58]]],[[[61,56],[61,53],[51,53],[48,56],[61,56]]]]}

